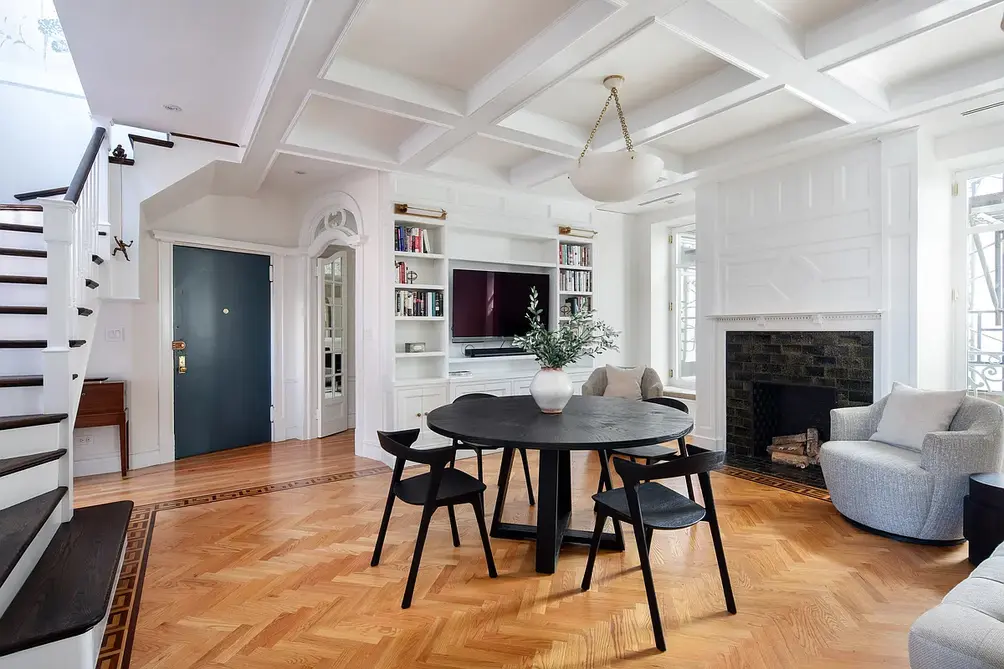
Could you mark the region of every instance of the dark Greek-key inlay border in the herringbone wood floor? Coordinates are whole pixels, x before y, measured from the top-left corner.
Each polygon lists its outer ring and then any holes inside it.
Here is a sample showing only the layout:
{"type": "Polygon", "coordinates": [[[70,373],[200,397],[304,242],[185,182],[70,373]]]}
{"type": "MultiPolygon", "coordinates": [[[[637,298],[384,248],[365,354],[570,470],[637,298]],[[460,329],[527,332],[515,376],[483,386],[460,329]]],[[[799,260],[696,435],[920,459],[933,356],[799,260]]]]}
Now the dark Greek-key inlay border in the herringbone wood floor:
{"type": "MultiPolygon", "coordinates": [[[[133,509],[129,530],[126,537],[126,556],[122,561],[121,575],[115,588],[115,596],[111,602],[111,612],[108,624],[104,630],[104,639],[97,659],[97,669],[129,669],[133,654],[133,641],[136,636],[136,626],[140,617],[140,602],[143,595],[143,582],[150,559],[150,546],[154,538],[154,525],[159,511],[168,511],[187,506],[212,504],[228,499],[254,497],[282,490],[295,490],[312,485],[336,483],[376,474],[386,474],[391,470],[385,466],[369,467],[357,471],[339,472],[324,476],[311,476],[293,481],[254,485],[247,488],[212,492],[192,497],[182,497],[168,501],[143,504],[133,509]]],[[[788,492],[829,500],[829,493],[819,488],[793,483],[774,476],[726,466],[723,474],[742,478],[754,483],[769,485],[788,492]]]]}

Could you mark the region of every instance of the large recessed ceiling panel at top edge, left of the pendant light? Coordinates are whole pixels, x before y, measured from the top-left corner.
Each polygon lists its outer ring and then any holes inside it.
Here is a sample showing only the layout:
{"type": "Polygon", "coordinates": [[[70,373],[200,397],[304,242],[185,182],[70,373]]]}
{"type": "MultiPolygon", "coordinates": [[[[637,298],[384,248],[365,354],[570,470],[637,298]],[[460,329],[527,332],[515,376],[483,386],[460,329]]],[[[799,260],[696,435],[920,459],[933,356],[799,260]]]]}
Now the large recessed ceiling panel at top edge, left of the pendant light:
{"type": "Polygon", "coordinates": [[[575,0],[369,0],[338,55],[468,90],[575,0]]]}

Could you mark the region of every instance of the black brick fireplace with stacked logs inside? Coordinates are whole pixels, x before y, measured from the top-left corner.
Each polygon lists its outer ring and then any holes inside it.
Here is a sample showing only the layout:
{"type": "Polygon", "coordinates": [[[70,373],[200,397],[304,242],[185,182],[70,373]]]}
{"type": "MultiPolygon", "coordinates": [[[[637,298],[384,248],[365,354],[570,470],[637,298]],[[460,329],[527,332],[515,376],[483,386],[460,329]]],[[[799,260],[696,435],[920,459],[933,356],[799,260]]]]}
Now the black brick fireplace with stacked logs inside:
{"type": "Polygon", "coordinates": [[[814,438],[824,443],[829,439],[831,409],[871,403],[874,333],[729,331],[725,349],[730,464],[820,485],[822,476],[811,454],[794,457],[798,451],[789,445],[798,443],[799,435],[809,448],[814,438]],[[772,451],[792,454],[774,459],[805,471],[771,462],[772,451]]]}

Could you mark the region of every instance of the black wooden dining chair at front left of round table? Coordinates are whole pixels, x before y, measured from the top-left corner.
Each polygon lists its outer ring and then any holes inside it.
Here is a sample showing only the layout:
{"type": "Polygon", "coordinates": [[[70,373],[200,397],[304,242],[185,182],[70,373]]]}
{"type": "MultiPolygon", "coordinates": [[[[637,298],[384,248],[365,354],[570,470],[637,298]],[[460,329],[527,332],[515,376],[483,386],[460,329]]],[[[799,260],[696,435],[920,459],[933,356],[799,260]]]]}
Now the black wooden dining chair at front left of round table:
{"type": "Polygon", "coordinates": [[[384,539],[387,537],[387,526],[391,521],[391,510],[394,508],[395,497],[406,504],[422,507],[422,521],[419,523],[419,538],[415,543],[415,554],[412,556],[412,570],[408,574],[408,585],[405,587],[405,598],[401,608],[412,606],[412,596],[415,594],[415,582],[419,576],[419,565],[422,563],[422,549],[429,533],[429,522],[433,513],[441,506],[446,506],[450,513],[450,529],[453,530],[453,544],[460,545],[460,532],[457,530],[457,516],[453,507],[457,504],[471,504],[478,520],[481,532],[481,542],[485,547],[485,561],[488,563],[488,575],[496,578],[495,560],[492,558],[492,545],[488,540],[488,527],[485,525],[485,507],[481,495],[485,484],[460,469],[447,467],[457,454],[452,446],[446,448],[417,449],[412,444],[419,438],[419,430],[402,430],[400,432],[378,432],[380,445],[385,451],[397,458],[394,464],[394,475],[391,477],[391,489],[387,494],[387,506],[384,508],[384,519],[376,535],[376,545],[373,546],[373,556],[370,567],[380,564],[380,554],[384,549],[384,539]],[[408,461],[429,465],[429,471],[418,476],[402,479],[405,464],[408,461]]]}

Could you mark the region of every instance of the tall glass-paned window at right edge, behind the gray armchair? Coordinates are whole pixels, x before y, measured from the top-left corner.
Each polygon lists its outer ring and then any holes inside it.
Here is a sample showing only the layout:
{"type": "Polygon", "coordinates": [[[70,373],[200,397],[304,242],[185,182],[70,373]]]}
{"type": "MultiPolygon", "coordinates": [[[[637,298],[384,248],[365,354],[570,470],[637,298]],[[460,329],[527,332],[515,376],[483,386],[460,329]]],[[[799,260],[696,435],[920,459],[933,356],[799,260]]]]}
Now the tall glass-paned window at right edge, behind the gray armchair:
{"type": "Polygon", "coordinates": [[[1004,393],[1004,174],[966,182],[966,382],[1004,393]]]}

